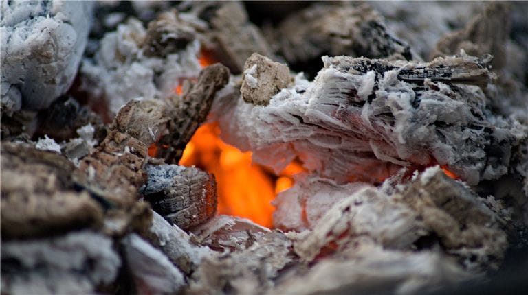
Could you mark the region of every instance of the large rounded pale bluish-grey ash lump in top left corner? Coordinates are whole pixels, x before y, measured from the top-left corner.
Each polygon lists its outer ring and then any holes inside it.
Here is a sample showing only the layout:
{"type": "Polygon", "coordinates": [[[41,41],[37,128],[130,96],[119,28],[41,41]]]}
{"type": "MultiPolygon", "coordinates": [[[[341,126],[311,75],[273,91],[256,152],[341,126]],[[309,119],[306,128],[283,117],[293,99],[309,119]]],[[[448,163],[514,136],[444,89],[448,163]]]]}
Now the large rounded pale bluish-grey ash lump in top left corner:
{"type": "Polygon", "coordinates": [[[47,108],[74,81],[87,44],[91,1],[2,1],[1,101],[47,108]]]}

